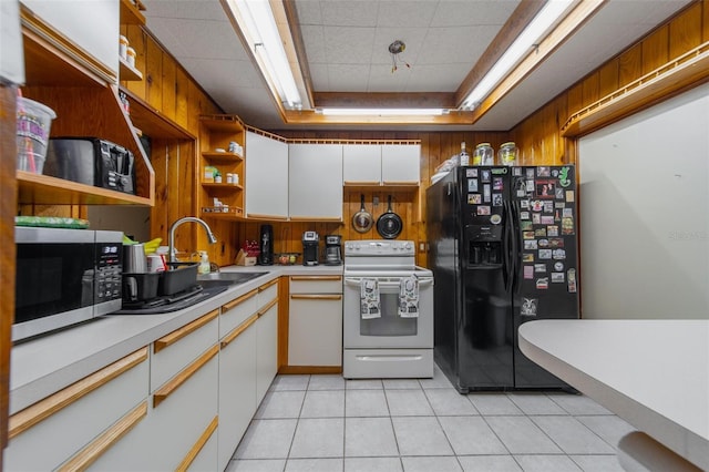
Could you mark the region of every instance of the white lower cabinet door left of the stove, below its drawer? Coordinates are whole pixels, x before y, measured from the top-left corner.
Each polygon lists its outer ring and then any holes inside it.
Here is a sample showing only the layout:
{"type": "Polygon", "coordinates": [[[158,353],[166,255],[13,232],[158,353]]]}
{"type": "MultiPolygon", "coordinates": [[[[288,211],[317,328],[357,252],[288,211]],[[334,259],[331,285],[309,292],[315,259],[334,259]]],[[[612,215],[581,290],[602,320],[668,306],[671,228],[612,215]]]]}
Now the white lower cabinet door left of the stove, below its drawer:
{"type": "Polygon", "coordinates": [[[341,294],[290,295],[288,365],[342,365],[341,294]]]}

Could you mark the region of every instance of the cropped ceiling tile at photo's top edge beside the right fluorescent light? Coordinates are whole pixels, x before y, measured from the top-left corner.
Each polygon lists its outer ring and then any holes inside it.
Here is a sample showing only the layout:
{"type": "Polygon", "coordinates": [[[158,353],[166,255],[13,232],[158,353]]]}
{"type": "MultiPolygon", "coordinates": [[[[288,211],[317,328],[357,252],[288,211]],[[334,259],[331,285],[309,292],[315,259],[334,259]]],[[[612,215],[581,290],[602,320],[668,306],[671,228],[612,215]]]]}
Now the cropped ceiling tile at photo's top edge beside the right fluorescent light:
{"type": "Polygon", "coordinates": [[[518,3],[518,0],[442,0],[438,2],[431,27],[502,25],[518,3]]]}

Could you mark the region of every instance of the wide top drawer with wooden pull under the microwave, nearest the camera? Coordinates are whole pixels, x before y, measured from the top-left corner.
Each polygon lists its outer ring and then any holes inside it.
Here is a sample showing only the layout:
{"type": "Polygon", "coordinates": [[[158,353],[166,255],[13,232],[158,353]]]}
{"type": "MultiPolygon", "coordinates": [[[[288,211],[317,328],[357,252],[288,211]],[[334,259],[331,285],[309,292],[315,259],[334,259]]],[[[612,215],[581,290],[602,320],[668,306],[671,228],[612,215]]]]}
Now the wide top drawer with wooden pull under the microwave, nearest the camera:
{"type": "Polygon", "coordinates": [[[4,470],[54,470],[148,394],[147,348],[10,418],[4,470]]]}

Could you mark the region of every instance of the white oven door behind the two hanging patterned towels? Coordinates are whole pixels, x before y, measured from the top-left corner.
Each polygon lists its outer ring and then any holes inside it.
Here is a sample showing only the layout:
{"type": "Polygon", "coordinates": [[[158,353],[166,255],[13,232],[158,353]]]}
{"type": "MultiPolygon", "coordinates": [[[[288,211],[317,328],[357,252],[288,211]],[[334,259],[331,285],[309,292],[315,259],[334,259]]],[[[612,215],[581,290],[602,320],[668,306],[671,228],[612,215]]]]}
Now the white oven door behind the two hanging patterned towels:
{"type": "Polygon", "coordinates": [[[433,348],[433,279],[419,279],[419,316],[399,315],[401,277],[345,277],[343,345],[358,348],[433,348]],[[362,278],[379,281],[381,317],[362,318],[360,294],[362,278]]]}

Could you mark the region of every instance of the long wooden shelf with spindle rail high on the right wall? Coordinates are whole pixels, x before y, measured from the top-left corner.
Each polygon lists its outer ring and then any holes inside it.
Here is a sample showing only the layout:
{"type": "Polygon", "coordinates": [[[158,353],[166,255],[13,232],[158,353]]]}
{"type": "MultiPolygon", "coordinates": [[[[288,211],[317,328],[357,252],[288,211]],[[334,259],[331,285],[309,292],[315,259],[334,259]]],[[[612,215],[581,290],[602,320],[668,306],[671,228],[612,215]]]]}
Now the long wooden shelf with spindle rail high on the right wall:
{"type": "Polygon", "coordinates": [[[709,42],[574,113],[562,127],[579,136],[618,121],[709,78],[709,42]]]}

